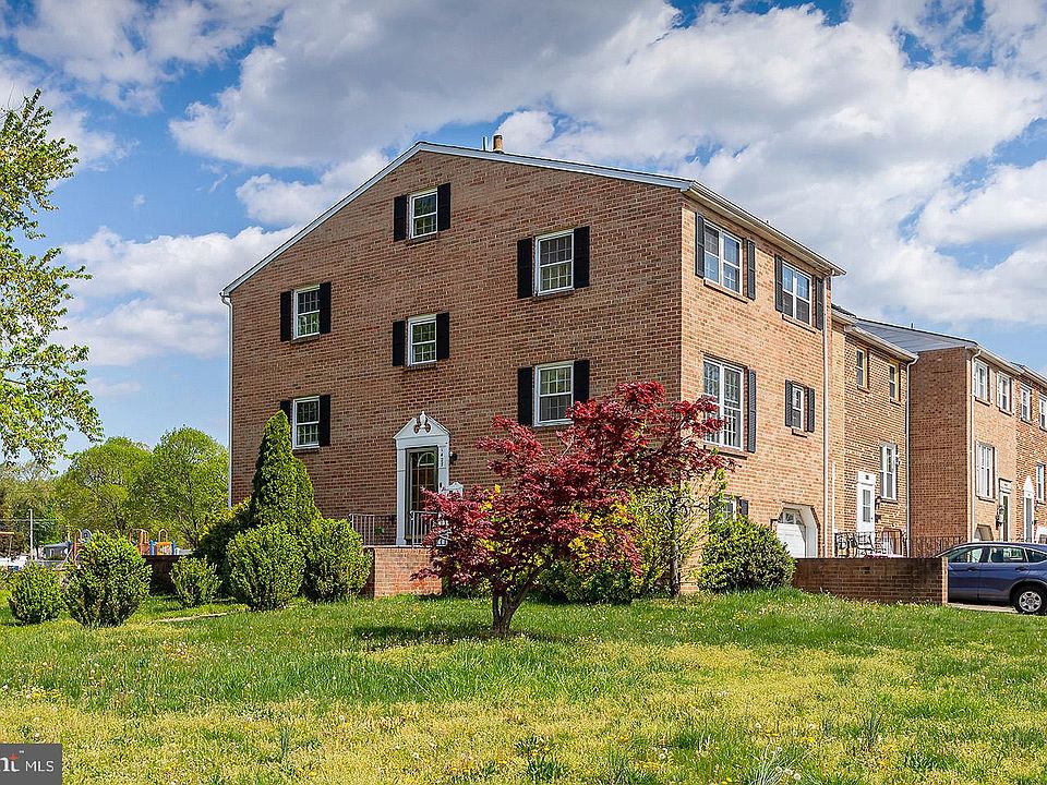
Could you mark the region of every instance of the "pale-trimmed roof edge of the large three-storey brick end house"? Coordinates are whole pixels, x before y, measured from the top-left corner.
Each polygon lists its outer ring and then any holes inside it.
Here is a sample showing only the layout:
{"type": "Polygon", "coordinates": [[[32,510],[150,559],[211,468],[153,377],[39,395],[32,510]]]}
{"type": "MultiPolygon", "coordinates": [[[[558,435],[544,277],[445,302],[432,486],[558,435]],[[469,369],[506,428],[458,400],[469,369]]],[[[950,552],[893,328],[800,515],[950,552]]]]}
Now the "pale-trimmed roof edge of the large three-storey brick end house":
{"type": "Polygon", "coordinates": [[[631,182],[645,183],[647,185],[658,185],[671,188],[685,193],[698,204],[715,209],[725,214],[729,218],[755,232],[765,234],[771,240],[780,243],[784,249],[795,254],[801,259],[813,265],[817,269],[828,275],[844,275],[844,270],[838,267],[820,254],[815,253],[806,245],[793,240],[787,234],[774,229],[767,221],[760,220],[753,214],[742,209],[733,202],[724,198],[720,194],[707,189],[705,185],[688,180],[687,178],[672,177],[669,174],[651,174],[648,172],[638,172],[629,169],[616,169],[614,167],[600,166],[597,164],[577,164],[574,161],[562,161],[553,158],[540,158],[537,156],[514,155],[512,153],[501,153],[495,150],[478,150],[471,147],[459,147],[456,145],[434,144],[432,142],[416,142],[413,146],[404,150],[396,158],[374,174],[371,179],[357,188],[352,193],[327,209],[323,215],[315,218],[309,226],[304,227],[294,237],[274,250],[265,258],[258,262],[254,267],[241,275],[234,281],[221,290],[222,297],[228,297],[237,287],[251,278],[255,273],[277,258],[288,249],[296,245],[302,238],[309,234],[313,229],[324,224],[328,218],[338,213],[342,207],[350,204],[359,196],[366,193],[372,185],[382,180],[386,174],[406,164],[419,153],[437,153],[441,155],[460,156],[462,158],[476,158],[479,160],[493,160],[503,164],[517,164],[520,166],[531,166],[541,169],[557,169],[559,171],[576,172],[579,174],[593,174],[595,177],[613,178],[615,180],[628,180],[631,182]]]}

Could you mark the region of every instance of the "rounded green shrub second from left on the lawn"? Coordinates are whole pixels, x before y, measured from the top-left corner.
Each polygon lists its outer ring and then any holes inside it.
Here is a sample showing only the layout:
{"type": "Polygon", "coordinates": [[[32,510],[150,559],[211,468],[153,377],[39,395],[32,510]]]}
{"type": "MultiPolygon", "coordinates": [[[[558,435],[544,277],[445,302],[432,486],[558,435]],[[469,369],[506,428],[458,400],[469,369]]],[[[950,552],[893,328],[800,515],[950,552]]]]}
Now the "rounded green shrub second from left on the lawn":
{"type": "Polygon", "coordinates": [[[84,627],[116,627],[149,591],[149,567],[122,536],[96,534],[65,585],[69,614],[84,627]]]}

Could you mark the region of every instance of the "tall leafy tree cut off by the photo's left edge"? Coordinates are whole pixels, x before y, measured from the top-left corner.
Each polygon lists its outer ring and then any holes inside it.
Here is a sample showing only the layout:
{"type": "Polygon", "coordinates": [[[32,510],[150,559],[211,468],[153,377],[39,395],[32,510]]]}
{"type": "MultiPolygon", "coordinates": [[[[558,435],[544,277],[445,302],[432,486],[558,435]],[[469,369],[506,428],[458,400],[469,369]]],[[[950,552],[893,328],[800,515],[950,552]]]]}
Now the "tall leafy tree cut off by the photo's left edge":
{"type": "Polygon", "coordinates": [[[72,177],[75,147],[49,138],[51,112],[39,90],[21,109],[3,111],[0,126],[0,452],[28,452],[41,464],[60,456],[70,431],[101,437],[101,422],[86,387],[87,348],[52,341],[84,268],[56,264],[58,249],[26,254],[40,240],[37,214],[53,209],[55,181],[72,177]]]}

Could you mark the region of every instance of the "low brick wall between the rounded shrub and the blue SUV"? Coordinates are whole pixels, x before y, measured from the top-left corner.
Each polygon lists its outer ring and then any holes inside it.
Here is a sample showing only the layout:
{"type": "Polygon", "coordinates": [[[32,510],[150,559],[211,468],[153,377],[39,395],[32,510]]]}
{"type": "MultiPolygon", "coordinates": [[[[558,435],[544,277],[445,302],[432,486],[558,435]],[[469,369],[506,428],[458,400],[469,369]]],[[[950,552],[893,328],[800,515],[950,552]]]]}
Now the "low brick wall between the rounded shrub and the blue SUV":
{"type": "Polygon", "coordinates": [[[807,558],[796,559],[793,585],[813,594],[881,603],[948,602],[944,559],[807,558]]]}

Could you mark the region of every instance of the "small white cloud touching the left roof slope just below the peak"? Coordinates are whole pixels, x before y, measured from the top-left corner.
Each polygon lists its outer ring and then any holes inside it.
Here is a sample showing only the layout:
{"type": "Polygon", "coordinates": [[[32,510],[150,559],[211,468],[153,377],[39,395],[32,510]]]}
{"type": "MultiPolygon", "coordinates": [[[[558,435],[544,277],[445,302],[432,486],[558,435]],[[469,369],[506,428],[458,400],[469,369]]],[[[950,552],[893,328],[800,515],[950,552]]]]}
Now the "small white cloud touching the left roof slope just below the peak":
{"type": "Polygon", "coordinates": [[[381,170],[388,159],[366,153],[325,171],[315,183],[287,182],[257,174],[237,189],[248,215],[267,226],[309,224],[345,195],[381,170]]]}

